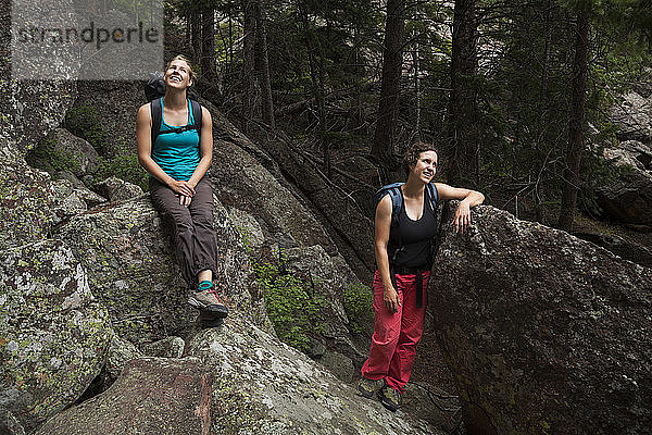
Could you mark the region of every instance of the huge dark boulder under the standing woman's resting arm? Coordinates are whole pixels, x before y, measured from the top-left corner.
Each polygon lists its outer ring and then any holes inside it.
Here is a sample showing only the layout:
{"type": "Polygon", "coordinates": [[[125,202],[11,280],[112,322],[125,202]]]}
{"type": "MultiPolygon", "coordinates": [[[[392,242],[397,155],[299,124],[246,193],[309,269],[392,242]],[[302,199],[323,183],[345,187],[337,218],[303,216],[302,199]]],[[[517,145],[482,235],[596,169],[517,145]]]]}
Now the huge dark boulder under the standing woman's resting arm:
{"type": "Polygon", "coordinates": [[[449,204],[430,281],[473,434],[645,434],[652,270],[491,207],[449,204]]]}

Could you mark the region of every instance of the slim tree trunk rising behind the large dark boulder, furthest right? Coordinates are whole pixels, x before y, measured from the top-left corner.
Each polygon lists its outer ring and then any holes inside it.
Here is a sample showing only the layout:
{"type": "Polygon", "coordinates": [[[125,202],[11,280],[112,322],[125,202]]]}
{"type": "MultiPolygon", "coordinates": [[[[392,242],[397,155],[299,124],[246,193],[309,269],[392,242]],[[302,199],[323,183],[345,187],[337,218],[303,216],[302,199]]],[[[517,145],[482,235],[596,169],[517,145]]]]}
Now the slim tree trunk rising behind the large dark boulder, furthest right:
{"type": "Polygon", "coordinates": [[[575,41],[575,62],[573,63],[573,105],[568,122],[568,147],[566,149],[566,167],[564,169],[564,187],[562,191],[562,210],[559,227],[570,231],[577,203],[579,186],[579,164],[584,148],[582,127],[585,117],[587,73],[589,54],[589,12],[580,11],[577,17],[577,39],[575,41]]]}

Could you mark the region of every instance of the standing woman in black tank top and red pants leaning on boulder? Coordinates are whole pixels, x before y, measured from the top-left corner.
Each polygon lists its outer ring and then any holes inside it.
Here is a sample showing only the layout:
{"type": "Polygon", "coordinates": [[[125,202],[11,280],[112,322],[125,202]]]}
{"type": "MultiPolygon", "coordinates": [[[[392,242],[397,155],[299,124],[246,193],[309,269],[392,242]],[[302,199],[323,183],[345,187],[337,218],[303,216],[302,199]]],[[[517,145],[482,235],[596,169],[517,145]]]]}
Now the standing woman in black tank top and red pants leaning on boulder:
{"type": "MultiPolygon", "coordinates": [[[[429,144],[416,142],[403,158],[408,181],[401,185],[402,206],[392,225],[392,200],[386,195],[376,208],[374,276],[375,333],[369,358],[362,366],[358,388],[371,398],[383,380],[378,398],[396,411],[410,380],[416,344],[424,328],[426,289],[430,277],[436,210],[426,186],[432,182],[438,156],[429,144]]],[[[453,225],[463,233],[471,223],[471,208],[482,203],[482,194],[434,183],[439,200],[457,199],[453,225]]]]}

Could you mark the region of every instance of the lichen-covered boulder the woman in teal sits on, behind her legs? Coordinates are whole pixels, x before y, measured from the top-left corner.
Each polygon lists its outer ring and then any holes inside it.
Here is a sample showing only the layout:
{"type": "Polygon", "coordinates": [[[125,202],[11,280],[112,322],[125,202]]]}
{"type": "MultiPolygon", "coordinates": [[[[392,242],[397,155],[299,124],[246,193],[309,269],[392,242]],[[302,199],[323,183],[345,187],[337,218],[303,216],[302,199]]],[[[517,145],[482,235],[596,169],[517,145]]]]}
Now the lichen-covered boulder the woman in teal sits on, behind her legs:
{"type": "MultiPolygon", "coordinates": [[[[242,309],[264,325],[263,308],[252,301],[248,258],[239,235],[216,202],[220,291],[233,309],[242,309]]],[[[195,327],[197,310],[174,259],[170,228],[149,198],[96,208],[59,228],[90,276],[95,295],[106,307],[117,335],[134,344],[195,327]]]]}

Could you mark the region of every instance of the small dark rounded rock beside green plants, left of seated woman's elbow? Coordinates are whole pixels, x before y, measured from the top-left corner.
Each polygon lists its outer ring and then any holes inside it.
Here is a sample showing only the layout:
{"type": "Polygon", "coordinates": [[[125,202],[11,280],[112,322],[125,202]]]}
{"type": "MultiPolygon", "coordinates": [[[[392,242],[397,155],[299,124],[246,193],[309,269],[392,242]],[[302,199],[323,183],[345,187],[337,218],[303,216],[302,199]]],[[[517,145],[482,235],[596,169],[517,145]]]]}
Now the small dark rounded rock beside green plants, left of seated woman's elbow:
{"type": "Polygon", "coordinates": [[[80,178],[97,171],[99,158],[96,149],[86,140],[64,128],[55,128],[27,153],[25,160],[30,166],[51,174],[70,171],[80,178]]]}

